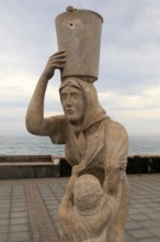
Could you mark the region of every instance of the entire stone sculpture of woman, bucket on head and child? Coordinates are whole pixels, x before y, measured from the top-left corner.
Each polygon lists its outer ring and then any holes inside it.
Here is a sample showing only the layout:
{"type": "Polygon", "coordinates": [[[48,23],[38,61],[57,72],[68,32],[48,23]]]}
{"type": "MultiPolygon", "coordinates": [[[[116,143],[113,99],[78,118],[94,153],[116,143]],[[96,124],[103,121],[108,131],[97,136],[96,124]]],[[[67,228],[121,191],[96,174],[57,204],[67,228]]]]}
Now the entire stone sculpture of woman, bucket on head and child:
{"type": "MultiPolygon", "coordinates": [[[[81,47],[82,59],[87,53],[83,53],[83,46],[79,46],[79,37],[81,30],[84,31],[85,24],[92,19],[88,20],[88,14],[98,19],[101,25],[99,14],[72,8],[68,8],[56,20],[57,25],[62,25],[62,32],[67,34],[64,29],[67,28],[69,35],[76,38],[76,47],[81,47]],[[76,31],[76,34],[71,31],[76,31]]],[[[61,241],[123,242],[129,206],[126,178],[128,136],[125,128],[107,117],[99,102],[93,85],[98,79],[98,67],[96,72],[92,72],[88,64],[89,73],[84,67],[83,74],[81,61],[73,62],[80,51],[72,52],[66,43],[60,43],[59,52],[49,57],[37,82],[26,113],[26,128],[33,134],[49,136],[55,144],[66,144],[66,158],[73,167],[58,210],[61,241]],[[72,73],[70,62],[76,65],[72,73]],[[45,92],[55,69],[61,73],[59,94],[65,114],[44,118],[45,92]]],[[[100,48],[100,40],[96,45],[100,48]]],[[[99,58],[99,54],[100,51],[96,51],[94,57],[99,58]]],[[[91,62],[98,65],[99,59],[91,62]]]]}

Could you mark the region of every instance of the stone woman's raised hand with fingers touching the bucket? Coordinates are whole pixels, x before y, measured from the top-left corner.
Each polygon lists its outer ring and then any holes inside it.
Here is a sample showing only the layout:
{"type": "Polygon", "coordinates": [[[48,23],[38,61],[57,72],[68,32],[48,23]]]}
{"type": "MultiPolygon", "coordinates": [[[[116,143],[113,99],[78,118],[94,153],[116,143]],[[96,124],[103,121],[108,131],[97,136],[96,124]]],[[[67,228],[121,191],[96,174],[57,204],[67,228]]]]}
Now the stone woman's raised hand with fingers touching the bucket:
{"type": "Polygon", "coordinates": [[[66,52],[60,51],[52,55],[46,64],[43,75],[50,79],[54,76],[55,69],[62,69],[66,64],[66,52]]]}

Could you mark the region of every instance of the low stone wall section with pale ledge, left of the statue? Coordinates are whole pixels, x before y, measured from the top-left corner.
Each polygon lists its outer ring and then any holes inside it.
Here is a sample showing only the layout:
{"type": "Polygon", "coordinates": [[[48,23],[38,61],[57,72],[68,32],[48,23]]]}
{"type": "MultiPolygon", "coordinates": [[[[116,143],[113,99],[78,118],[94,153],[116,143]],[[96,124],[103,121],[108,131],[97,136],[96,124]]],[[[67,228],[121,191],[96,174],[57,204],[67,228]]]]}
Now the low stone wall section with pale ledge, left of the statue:
{"type": "Polygon", "coordinates": [[[0,179],[59,177],[60,158],[52,155],[1,155],[0,179]]]}

